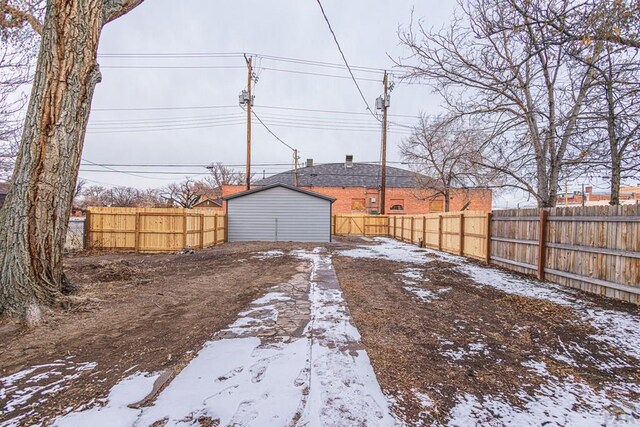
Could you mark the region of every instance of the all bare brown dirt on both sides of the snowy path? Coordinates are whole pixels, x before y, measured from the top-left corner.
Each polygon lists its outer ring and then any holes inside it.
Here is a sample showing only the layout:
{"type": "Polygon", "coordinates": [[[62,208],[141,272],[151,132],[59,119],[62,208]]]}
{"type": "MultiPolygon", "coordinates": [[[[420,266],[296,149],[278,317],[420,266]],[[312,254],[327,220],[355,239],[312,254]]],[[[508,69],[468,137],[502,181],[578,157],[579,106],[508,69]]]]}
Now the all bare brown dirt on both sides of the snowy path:
{"type": "MultiPolygon", "coordinates": [[[[640,400],[638,359],[598,340],[601,331],[570,306],[481,286],[450,258],[417,248],[408,252],[428,262],[342,252],[377,244],[340,238],[325,246],[399,420],[446,425],[461,395],[481,403],[499,396],[524,407],[527,396],[548,387],[545,375],[572,378],[608,395],[620,384],[633,384],[621,392],[626,400],[640,400]],[[532,361],[544,364],[547,374],[532,361]]],[[[315,246],[233,243],[193,254],[68,258],[67,275],[80,286],[82,303],[51,310],[35,329],[0,320],[0,425],[18,416],[21,425],[46,423],[104,401],[133,372],[181,369],[251,301],[300,266],[290,255],[258,253],[315,246]]],[[[611,300],[579,299],[600,311],[640,314],[611,300]]],[[[607,411],[624,413],[615,405],[607,411]]]]}

